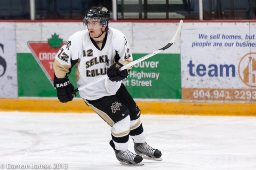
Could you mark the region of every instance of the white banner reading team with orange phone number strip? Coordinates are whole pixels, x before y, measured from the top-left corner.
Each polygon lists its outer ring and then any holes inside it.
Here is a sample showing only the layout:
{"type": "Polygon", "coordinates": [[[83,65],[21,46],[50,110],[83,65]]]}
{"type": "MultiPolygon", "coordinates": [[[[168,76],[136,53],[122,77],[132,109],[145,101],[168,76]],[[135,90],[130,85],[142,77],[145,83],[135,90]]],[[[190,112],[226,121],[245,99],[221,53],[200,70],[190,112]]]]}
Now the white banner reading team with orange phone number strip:
{"type": "Polygon", "coordinates": [[[256,102],[254,33],[249,23],[185,23],[182,100],[256,102]]]}

